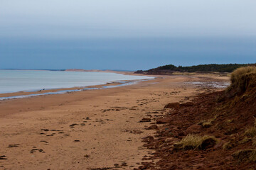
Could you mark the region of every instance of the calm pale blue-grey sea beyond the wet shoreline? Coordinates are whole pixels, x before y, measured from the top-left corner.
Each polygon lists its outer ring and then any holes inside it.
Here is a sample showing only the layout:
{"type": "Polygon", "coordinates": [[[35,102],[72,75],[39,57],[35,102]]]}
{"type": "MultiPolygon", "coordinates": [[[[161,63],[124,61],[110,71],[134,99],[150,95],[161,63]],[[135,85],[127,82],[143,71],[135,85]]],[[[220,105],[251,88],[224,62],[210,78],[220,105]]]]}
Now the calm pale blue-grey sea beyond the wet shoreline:
{"type": "Polygon", "coordinates": [[[151,78],[105,72],[0,70],[0,94],[17,91],[93,86],[112,81],[151,78]]]}

